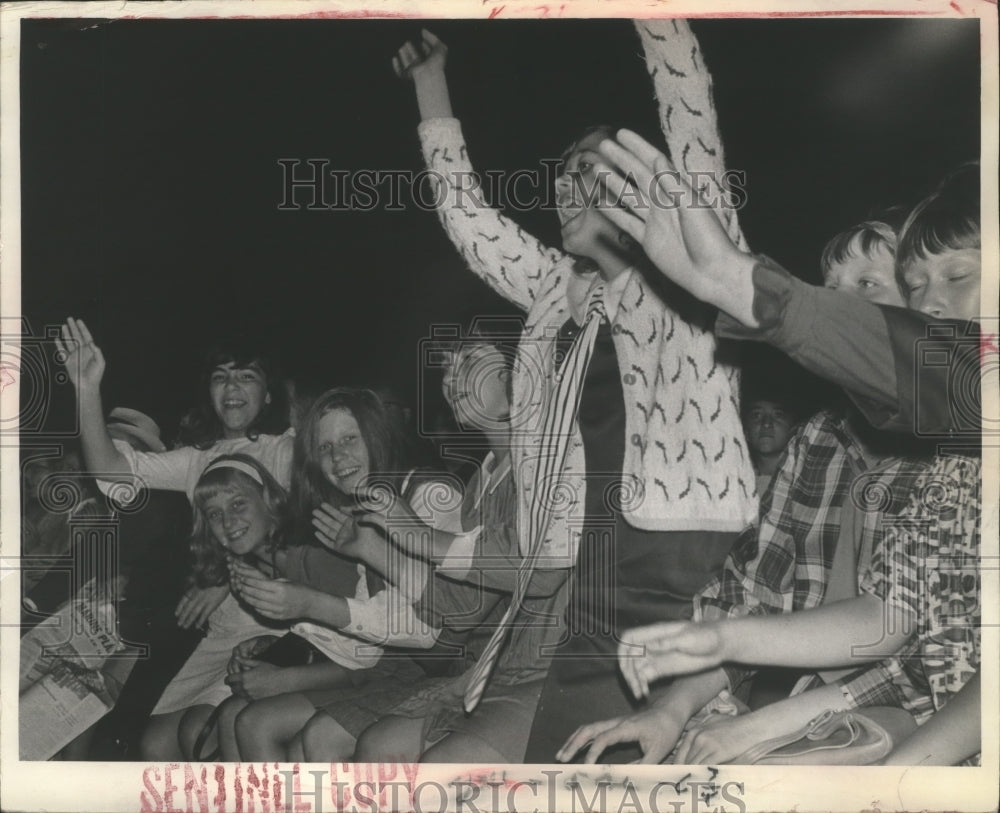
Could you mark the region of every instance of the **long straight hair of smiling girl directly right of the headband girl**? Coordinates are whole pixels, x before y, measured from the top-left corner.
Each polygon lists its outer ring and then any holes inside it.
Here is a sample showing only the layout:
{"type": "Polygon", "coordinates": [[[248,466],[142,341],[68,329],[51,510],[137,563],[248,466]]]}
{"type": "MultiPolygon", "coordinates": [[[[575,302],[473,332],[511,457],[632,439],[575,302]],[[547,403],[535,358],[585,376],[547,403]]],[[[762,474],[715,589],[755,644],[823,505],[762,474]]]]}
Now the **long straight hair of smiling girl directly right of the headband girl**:
{"type": "Polygon", "coordinates": [[[308,526],[313,509],[321,502],[346,505],[352,501],[352,495],[343,494],[323,476],[316,452],[319,422],[335,409],[347,410],[358,422],[361,438],[368,449],[370,474],[380,479],[396,479],[405,473],[410,462],[406,459],[406,444],[396,422],[374,392],[359,387],[336,387],[324,392],[309,409],[302,431],[295,438],[291,500],[305,538],[312,536],[308,526]]]}

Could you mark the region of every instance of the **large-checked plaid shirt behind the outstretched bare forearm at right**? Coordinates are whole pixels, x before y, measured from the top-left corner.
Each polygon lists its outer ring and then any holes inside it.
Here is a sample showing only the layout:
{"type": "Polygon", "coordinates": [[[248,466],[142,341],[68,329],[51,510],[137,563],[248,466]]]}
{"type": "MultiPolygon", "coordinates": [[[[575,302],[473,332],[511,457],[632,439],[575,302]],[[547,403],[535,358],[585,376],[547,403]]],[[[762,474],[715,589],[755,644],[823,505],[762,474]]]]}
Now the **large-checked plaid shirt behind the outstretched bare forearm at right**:
{"type": "MultiPolygon", "coordinates": [[[[696,620],[789,613],[819,606],[854,479],[868,468],[844,417],[820,412],[788,445],[722,573],[694,599],[696,620]]],[[[725,667],[731,688],[748,672],[725,667]]]]}

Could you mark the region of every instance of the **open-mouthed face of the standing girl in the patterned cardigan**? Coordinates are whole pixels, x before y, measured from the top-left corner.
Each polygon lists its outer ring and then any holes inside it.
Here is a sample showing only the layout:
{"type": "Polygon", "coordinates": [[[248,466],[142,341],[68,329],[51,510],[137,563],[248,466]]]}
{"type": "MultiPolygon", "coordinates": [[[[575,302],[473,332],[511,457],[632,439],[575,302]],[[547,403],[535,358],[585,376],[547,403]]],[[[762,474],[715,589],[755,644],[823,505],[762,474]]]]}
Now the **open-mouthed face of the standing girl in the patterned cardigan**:
{"type": "Polygon", "coordinates": [[[583,257],[593,258],[602,247],[606,250],[618,243],[618,228],[596,205],[602,190],[594,164],[602,160],[598,147],[605,138],[605,133],[595,132],[580,139],[566,158],[563,174],[556,178],[563,248],[583,257]]]}

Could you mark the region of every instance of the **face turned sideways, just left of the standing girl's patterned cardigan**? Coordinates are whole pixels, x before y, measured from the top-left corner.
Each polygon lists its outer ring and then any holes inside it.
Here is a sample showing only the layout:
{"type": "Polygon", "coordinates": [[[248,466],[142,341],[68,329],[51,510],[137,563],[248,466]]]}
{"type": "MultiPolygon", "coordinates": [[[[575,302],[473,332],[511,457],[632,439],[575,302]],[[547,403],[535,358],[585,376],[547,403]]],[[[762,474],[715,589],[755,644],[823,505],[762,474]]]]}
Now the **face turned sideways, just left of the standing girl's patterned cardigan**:
{"type": "Polygon", "coordinates": [[[501,428],[510,418],[508,376],[497,348],[480,344],[460,350],[443,382],[444,397],[455,420],[487,432],[501,428]]]}

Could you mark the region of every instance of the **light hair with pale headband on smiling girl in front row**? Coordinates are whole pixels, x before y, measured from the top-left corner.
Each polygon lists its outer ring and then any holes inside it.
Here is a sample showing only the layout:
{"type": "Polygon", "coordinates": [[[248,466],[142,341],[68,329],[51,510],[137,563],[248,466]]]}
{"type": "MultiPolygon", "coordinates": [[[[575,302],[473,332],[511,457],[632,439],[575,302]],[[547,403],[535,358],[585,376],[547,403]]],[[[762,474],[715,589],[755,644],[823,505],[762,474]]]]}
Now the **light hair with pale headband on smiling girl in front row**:
{"type": "Polygon", "coordinates": [[[285,489],[249,455],[220,455],[205,467],[205,473],[198,479],[191,500],[194,504],[194,528],[191,533],[193,581],[199,587],[225,584],[229,579],[226,551],[213,536],[205,519],[204,508],[205,503],[217,494],[233,491],[244,494],[252,492],[264,501],[274,522],[274,529],[268,539],[268,550],[273,553],[286,545],[290,517],[285,489]],[[227,463],[232,465],[225,465],[227,463]],[[257,473],[260,482],[245,470],[248,466],[257,473]]]}

